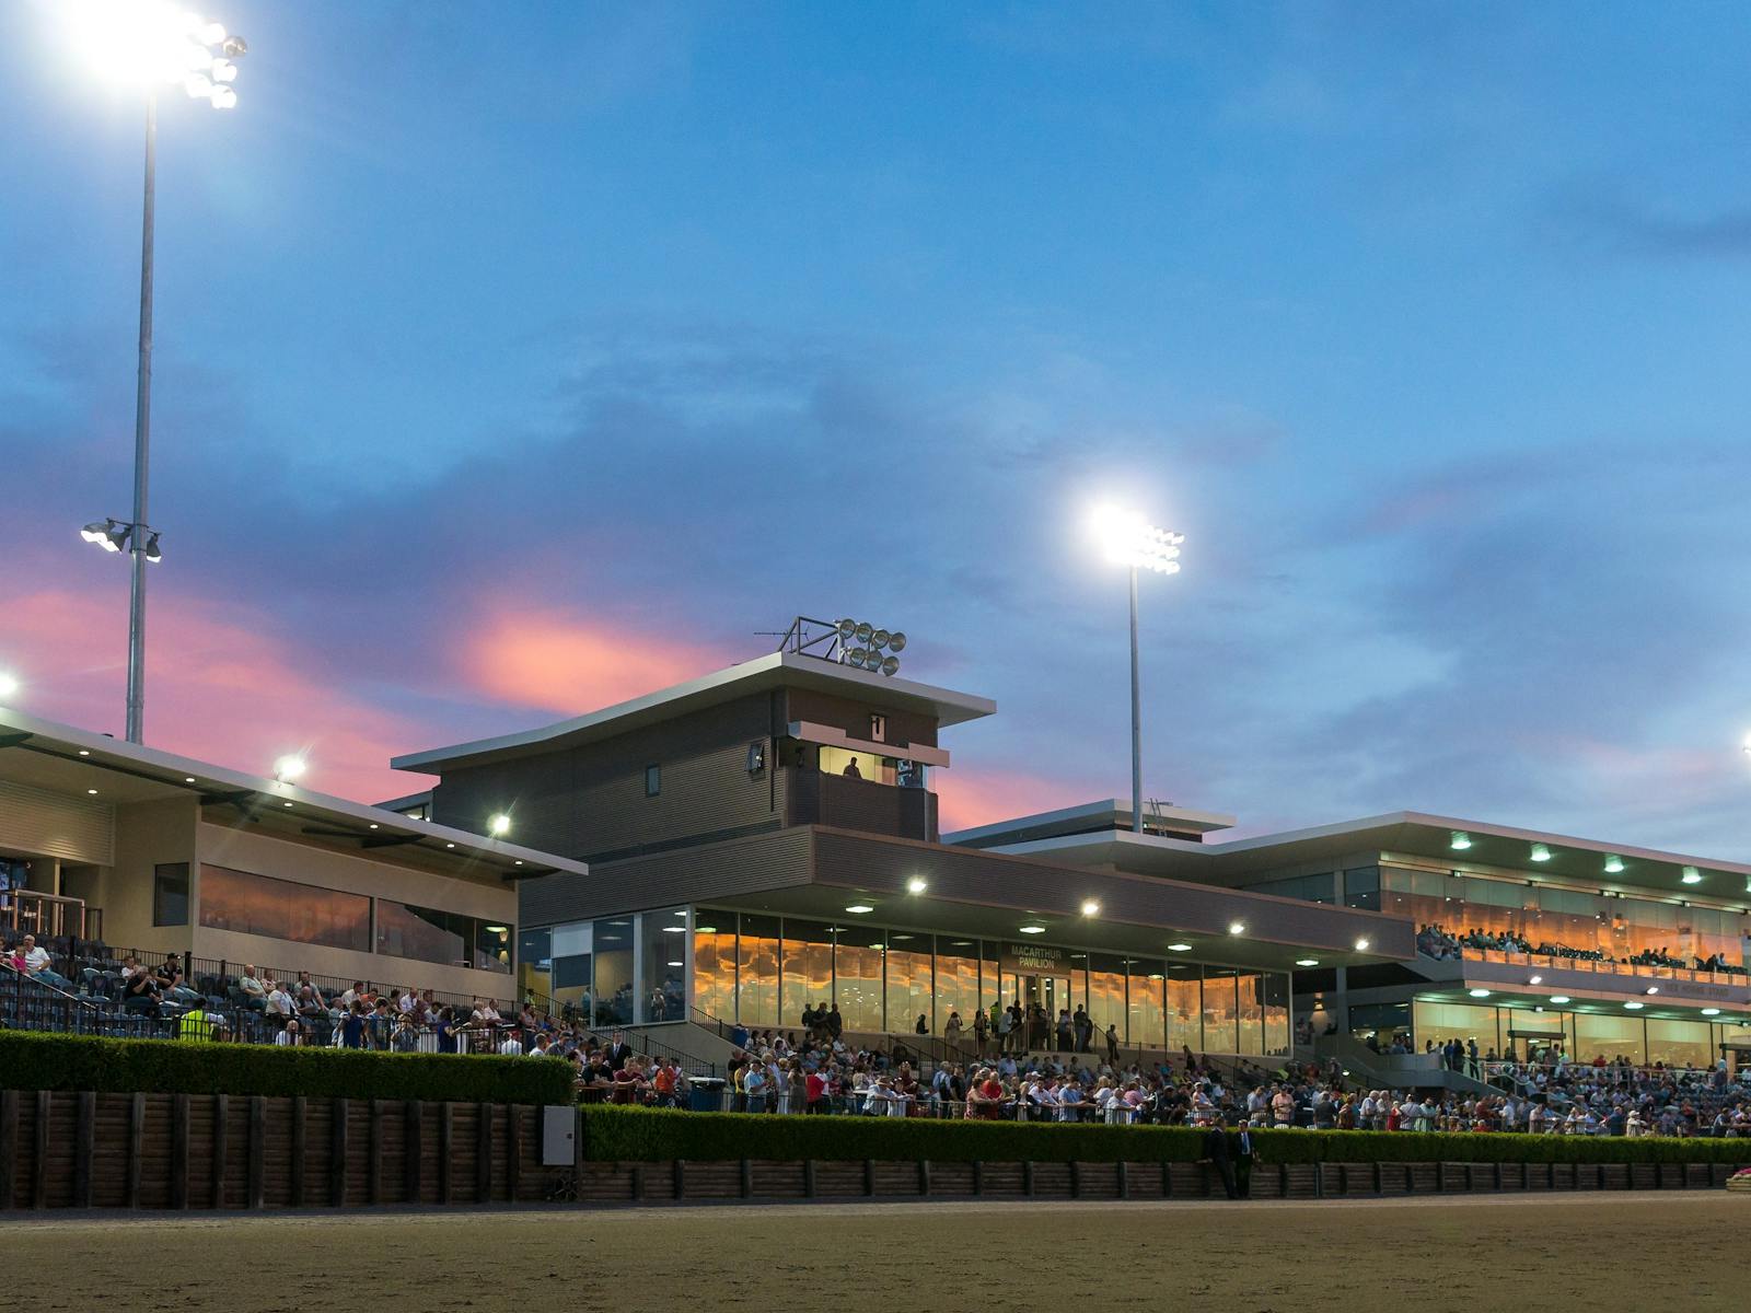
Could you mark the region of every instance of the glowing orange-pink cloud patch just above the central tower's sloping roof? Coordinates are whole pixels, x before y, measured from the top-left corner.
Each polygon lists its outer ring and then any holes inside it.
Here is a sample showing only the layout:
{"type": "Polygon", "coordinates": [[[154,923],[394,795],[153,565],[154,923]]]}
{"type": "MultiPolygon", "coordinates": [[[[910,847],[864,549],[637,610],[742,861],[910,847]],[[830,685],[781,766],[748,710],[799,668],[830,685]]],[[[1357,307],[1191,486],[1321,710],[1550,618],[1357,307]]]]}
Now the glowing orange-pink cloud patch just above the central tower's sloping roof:
{"type": "Polygon", "coordinates": [[[468,681],[494,699],[566,716],[706,674],[709,648],[562,611],[501,609],[462,651],[468,681]]]}

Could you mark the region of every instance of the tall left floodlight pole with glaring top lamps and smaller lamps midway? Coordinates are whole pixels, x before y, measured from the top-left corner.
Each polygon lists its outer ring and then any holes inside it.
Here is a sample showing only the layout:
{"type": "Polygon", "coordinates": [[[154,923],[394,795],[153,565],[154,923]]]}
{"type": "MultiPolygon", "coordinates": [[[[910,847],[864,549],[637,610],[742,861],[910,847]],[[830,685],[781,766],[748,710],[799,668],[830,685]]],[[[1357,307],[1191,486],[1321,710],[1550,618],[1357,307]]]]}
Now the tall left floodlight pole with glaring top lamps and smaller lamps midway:
{"type": "Polygon", "coordinates": [[[163,0],[82,0],[68,7],[72,40],[102,75],[145,89],[145,203],[140,221],[140,341],[133,403],[133,518],[91,523],[81,532],[107,551],[126,550],[128,742],[145,741],[145,567],[159,560],[158,530],[147,523],[152,438],[152,229],[158,208],[158,89],[180,86],[214,109],[236,105],[236,60],[249,44],[198,14],[163,0]],[[105,529],[107,523],[107,529],[105,529]]]}

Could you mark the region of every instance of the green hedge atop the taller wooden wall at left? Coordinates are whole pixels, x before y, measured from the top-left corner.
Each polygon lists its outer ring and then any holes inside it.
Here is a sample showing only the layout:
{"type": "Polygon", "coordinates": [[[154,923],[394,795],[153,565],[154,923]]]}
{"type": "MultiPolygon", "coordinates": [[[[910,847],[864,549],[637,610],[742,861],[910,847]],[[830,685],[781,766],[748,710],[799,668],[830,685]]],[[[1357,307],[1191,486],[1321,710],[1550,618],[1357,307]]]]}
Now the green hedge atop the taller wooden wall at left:
{"type": "Polygon", "coordinates": [[[573,1075],[571,1064],[557,1057],[376,1054],[0,1031],[0,1089],[571,1103],[573,1075]]]}

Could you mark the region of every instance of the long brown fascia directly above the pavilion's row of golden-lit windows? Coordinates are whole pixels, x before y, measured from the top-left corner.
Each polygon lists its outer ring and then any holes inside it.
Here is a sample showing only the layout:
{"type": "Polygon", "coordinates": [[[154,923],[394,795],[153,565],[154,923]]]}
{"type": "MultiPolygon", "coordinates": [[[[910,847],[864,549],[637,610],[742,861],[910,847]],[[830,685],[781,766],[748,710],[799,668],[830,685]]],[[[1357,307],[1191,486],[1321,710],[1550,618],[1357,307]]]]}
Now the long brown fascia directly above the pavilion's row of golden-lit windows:
{"type": "Polygon", "coordinates": [[[1220,935],[1238,917],[1245,919],[1248,938],[1348,949],[1357,935],[1368,935],[1375,952],[1406,958],[1415,952],[1410,923],[1364,917],[1341,907],[816,832],[814,877],[823,884],[900,893],[912,875],[923,875],[933,895],[949,900],[1073,914],[1080,898],[1094,896],[1105,921],[1220,935]]]}

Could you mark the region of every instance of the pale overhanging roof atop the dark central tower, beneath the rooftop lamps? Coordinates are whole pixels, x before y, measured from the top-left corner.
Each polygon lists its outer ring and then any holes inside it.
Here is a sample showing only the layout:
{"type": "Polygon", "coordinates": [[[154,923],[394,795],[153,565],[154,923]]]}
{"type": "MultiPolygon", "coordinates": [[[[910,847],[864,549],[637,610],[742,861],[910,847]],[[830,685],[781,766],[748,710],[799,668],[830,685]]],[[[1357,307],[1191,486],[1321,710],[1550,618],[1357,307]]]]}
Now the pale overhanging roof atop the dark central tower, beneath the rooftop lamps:
{"type": "Polygon", "coordinates": [[[490,760],[546,753],[555,748],[576,748],[597,739],[609,739],[644,725],[674,720],[700,707],[730,702],[749,693],[776,688],[809,688],[819,693],[861,699],[876,707],[916,711],[937,720],[939,725],[960,725],[996,711],[996,702],[954,693],[947,688],[890,679],[870,671],[860,671],[839,662],[795,651],[772,651],[751,662],[714,671],[699,679],[662,688],[630,702],[592,711],[587,716],[562,720],[520,734],[503,734],[496,739],[431,748],[424,753],[404,753],[390,760],[396,770],[422,770],[441,774],[445,767],[478,765],[490,760]]]}

